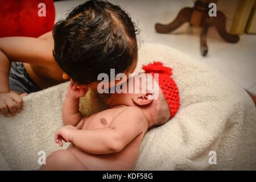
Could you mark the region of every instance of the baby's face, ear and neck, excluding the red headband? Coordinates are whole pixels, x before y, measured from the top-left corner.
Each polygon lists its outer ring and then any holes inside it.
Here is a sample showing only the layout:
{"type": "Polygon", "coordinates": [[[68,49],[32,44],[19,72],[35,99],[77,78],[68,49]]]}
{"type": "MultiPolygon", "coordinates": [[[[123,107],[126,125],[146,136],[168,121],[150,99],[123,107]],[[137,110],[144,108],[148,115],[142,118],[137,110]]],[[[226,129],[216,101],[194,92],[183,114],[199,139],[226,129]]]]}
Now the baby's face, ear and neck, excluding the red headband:
{"type": "MultiPolygon", "coordinates": [[[[130,77],[122,84],[122,90],[119,90],[125,92],[111,94],[107,101],[108,106],[137,106],[144,111],[147,118],[151,118],[150,127],[163,125],[171,117],[170,109],[155,79],[157,80],[157,76],[152,77],[148,73],[130,77]]],[[[115,90],[118,87],[120,85],[117,85],[115,90]]]]}

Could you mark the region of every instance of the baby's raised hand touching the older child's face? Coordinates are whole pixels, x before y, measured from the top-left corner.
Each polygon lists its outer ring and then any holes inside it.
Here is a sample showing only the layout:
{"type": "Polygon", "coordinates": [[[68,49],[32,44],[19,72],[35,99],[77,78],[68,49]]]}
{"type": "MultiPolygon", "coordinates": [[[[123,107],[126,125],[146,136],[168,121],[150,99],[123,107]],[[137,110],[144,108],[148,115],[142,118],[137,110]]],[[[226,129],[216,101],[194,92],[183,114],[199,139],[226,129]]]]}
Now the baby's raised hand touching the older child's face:
{"type": "Polygon", "coordinates": [[[84,96],[88,91],[87,85],[81,85],[78,82],[75,82],[71,79],[69,88],[68,88],[68,97],[69,98],[80,98],[84,96]]]}

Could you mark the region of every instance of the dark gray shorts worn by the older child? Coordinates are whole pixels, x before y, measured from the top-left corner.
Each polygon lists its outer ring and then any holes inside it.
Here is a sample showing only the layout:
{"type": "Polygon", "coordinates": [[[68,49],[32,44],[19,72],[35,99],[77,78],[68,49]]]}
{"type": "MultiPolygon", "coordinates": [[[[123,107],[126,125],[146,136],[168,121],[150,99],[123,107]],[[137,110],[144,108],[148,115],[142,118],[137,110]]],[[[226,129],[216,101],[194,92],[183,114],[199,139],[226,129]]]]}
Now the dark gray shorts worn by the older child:
{"type": "Polygon", "coordinates": [[[9,88],[19,93],[31,93],[42,90],[28,75],[23,64],[20,62],[11,62],[9,88]]]}

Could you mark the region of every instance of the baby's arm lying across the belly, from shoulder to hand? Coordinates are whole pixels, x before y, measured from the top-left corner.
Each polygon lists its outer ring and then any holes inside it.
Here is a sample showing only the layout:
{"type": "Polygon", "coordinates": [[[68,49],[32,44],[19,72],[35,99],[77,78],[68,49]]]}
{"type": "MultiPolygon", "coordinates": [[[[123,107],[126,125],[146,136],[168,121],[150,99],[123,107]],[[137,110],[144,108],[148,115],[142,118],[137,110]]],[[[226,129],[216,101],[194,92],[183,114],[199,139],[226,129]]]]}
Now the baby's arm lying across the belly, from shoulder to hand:
{"type": "Polygon", "coordinates": [[[110,154],[121,151],[135,137],[147,131],[147,121],[137,107],[128,107],[114,118],[108,128],[77,130],[64,126],[55,135],[55,142],[62,139],[90,154],[110,154]],[[66,127],[66,128],[65,128],[66,127]]]}

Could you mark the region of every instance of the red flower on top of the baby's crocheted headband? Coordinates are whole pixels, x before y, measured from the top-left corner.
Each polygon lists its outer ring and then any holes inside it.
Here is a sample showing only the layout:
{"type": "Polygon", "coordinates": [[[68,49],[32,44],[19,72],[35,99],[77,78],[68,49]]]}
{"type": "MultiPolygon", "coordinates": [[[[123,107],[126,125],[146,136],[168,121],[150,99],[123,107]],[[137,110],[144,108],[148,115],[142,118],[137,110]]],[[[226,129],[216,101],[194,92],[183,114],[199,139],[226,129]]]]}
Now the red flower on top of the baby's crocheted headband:
{"type": "Polygon", "coordinates": [[[146,73],[166,73],[172,75],[172,68],[164,67],[161,62],[153,61],[153,63],[143,65],[142,69],[144,69],[146,73]]]}

